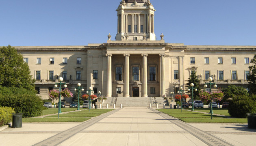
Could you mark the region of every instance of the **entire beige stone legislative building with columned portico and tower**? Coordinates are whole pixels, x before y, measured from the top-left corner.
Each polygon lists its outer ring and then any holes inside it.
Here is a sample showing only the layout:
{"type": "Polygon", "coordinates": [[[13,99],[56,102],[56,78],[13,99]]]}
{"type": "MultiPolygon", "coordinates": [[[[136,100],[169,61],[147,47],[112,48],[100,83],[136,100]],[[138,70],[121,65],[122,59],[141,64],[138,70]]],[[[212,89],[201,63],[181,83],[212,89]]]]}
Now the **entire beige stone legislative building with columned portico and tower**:
{"type": "Polygon", "coordinates": [[[116,11],[117,34],[114,39],[106,34],[106,43],[15,46],[36,79],[39,95],[48,99],[56,79],[63,77],[72,92],[80,82],[85,89],[91,86],[95,94],[101,91],[106,97],[169,96],[185,87],[192,70],[202,88],[208,77],[218,87],[247,88],[248,66],[256,46],[167,43],[164,32],[154,32],[156,10],[150,0],[121,0],[116,11]]]}

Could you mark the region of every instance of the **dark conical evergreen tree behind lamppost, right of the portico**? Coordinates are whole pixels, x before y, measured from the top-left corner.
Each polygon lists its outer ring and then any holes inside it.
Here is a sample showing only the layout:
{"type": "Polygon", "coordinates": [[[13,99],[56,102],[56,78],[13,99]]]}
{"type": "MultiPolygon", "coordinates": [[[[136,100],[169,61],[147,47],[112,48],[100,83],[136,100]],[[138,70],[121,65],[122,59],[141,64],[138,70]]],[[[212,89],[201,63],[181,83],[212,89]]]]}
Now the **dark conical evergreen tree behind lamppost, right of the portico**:
{"type": "MultiPolygon", "coordinates": [[[[188,83],[186,84],[186,87],[190,87],[190,84],[193,83],[194,84],[194,88],[197,88],[197,91],[195,91],[195,89],[193,89],[193,99],[194,100],[200,100],[199,98],[199,93],[201,88],[198,86],[200,82],[200,79],[197,78],[196,73],[194,70],[191,71],[191,75],[189,78],[188,83]]],[[[187,93],[189,94],[189,97],[192,98],[192,90],[187,91],[187,93]]]]}

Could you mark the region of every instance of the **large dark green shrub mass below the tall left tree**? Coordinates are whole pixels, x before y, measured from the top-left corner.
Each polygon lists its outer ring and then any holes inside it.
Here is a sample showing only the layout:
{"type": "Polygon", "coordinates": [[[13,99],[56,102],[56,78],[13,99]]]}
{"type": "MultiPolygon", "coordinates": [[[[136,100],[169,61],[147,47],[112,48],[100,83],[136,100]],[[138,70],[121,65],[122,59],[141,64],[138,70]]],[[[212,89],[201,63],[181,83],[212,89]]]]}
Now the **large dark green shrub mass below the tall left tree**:
{"type": "Polygon", "coordinates": [[[42,114],[43,100],[24,88],[0,87],[0,106],[12,107],[15,112],[23,113],[23,117],[35,117],[42,114]]]}

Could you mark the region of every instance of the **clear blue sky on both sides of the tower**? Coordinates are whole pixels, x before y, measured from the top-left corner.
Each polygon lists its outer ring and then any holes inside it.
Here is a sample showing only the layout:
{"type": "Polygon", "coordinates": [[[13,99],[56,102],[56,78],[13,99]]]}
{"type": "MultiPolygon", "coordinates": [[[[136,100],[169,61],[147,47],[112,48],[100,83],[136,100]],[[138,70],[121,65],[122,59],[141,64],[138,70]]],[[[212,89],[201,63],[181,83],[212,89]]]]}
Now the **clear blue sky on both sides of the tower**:
{"type": "MultiPolygon", "coordinates": [[[[0,0],[0,46],[106,43],[121,0],[0,0]]],[[[167,43],[256,45],[256,0],[151,0],[167,43]]]]}

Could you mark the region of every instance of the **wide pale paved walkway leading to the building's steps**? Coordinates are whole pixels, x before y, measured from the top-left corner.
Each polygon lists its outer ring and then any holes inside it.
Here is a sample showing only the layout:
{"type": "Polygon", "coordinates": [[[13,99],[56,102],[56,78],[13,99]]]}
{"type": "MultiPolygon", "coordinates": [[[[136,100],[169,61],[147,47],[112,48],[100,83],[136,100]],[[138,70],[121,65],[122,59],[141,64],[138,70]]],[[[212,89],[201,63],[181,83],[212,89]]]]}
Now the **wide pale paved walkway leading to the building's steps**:
{"type": "Polygon", "coordinates": [[[23,123],[0,146],[252,146],[245,124],[184,123],[147,107],[125,107],[79,123],[23,123]]]}

